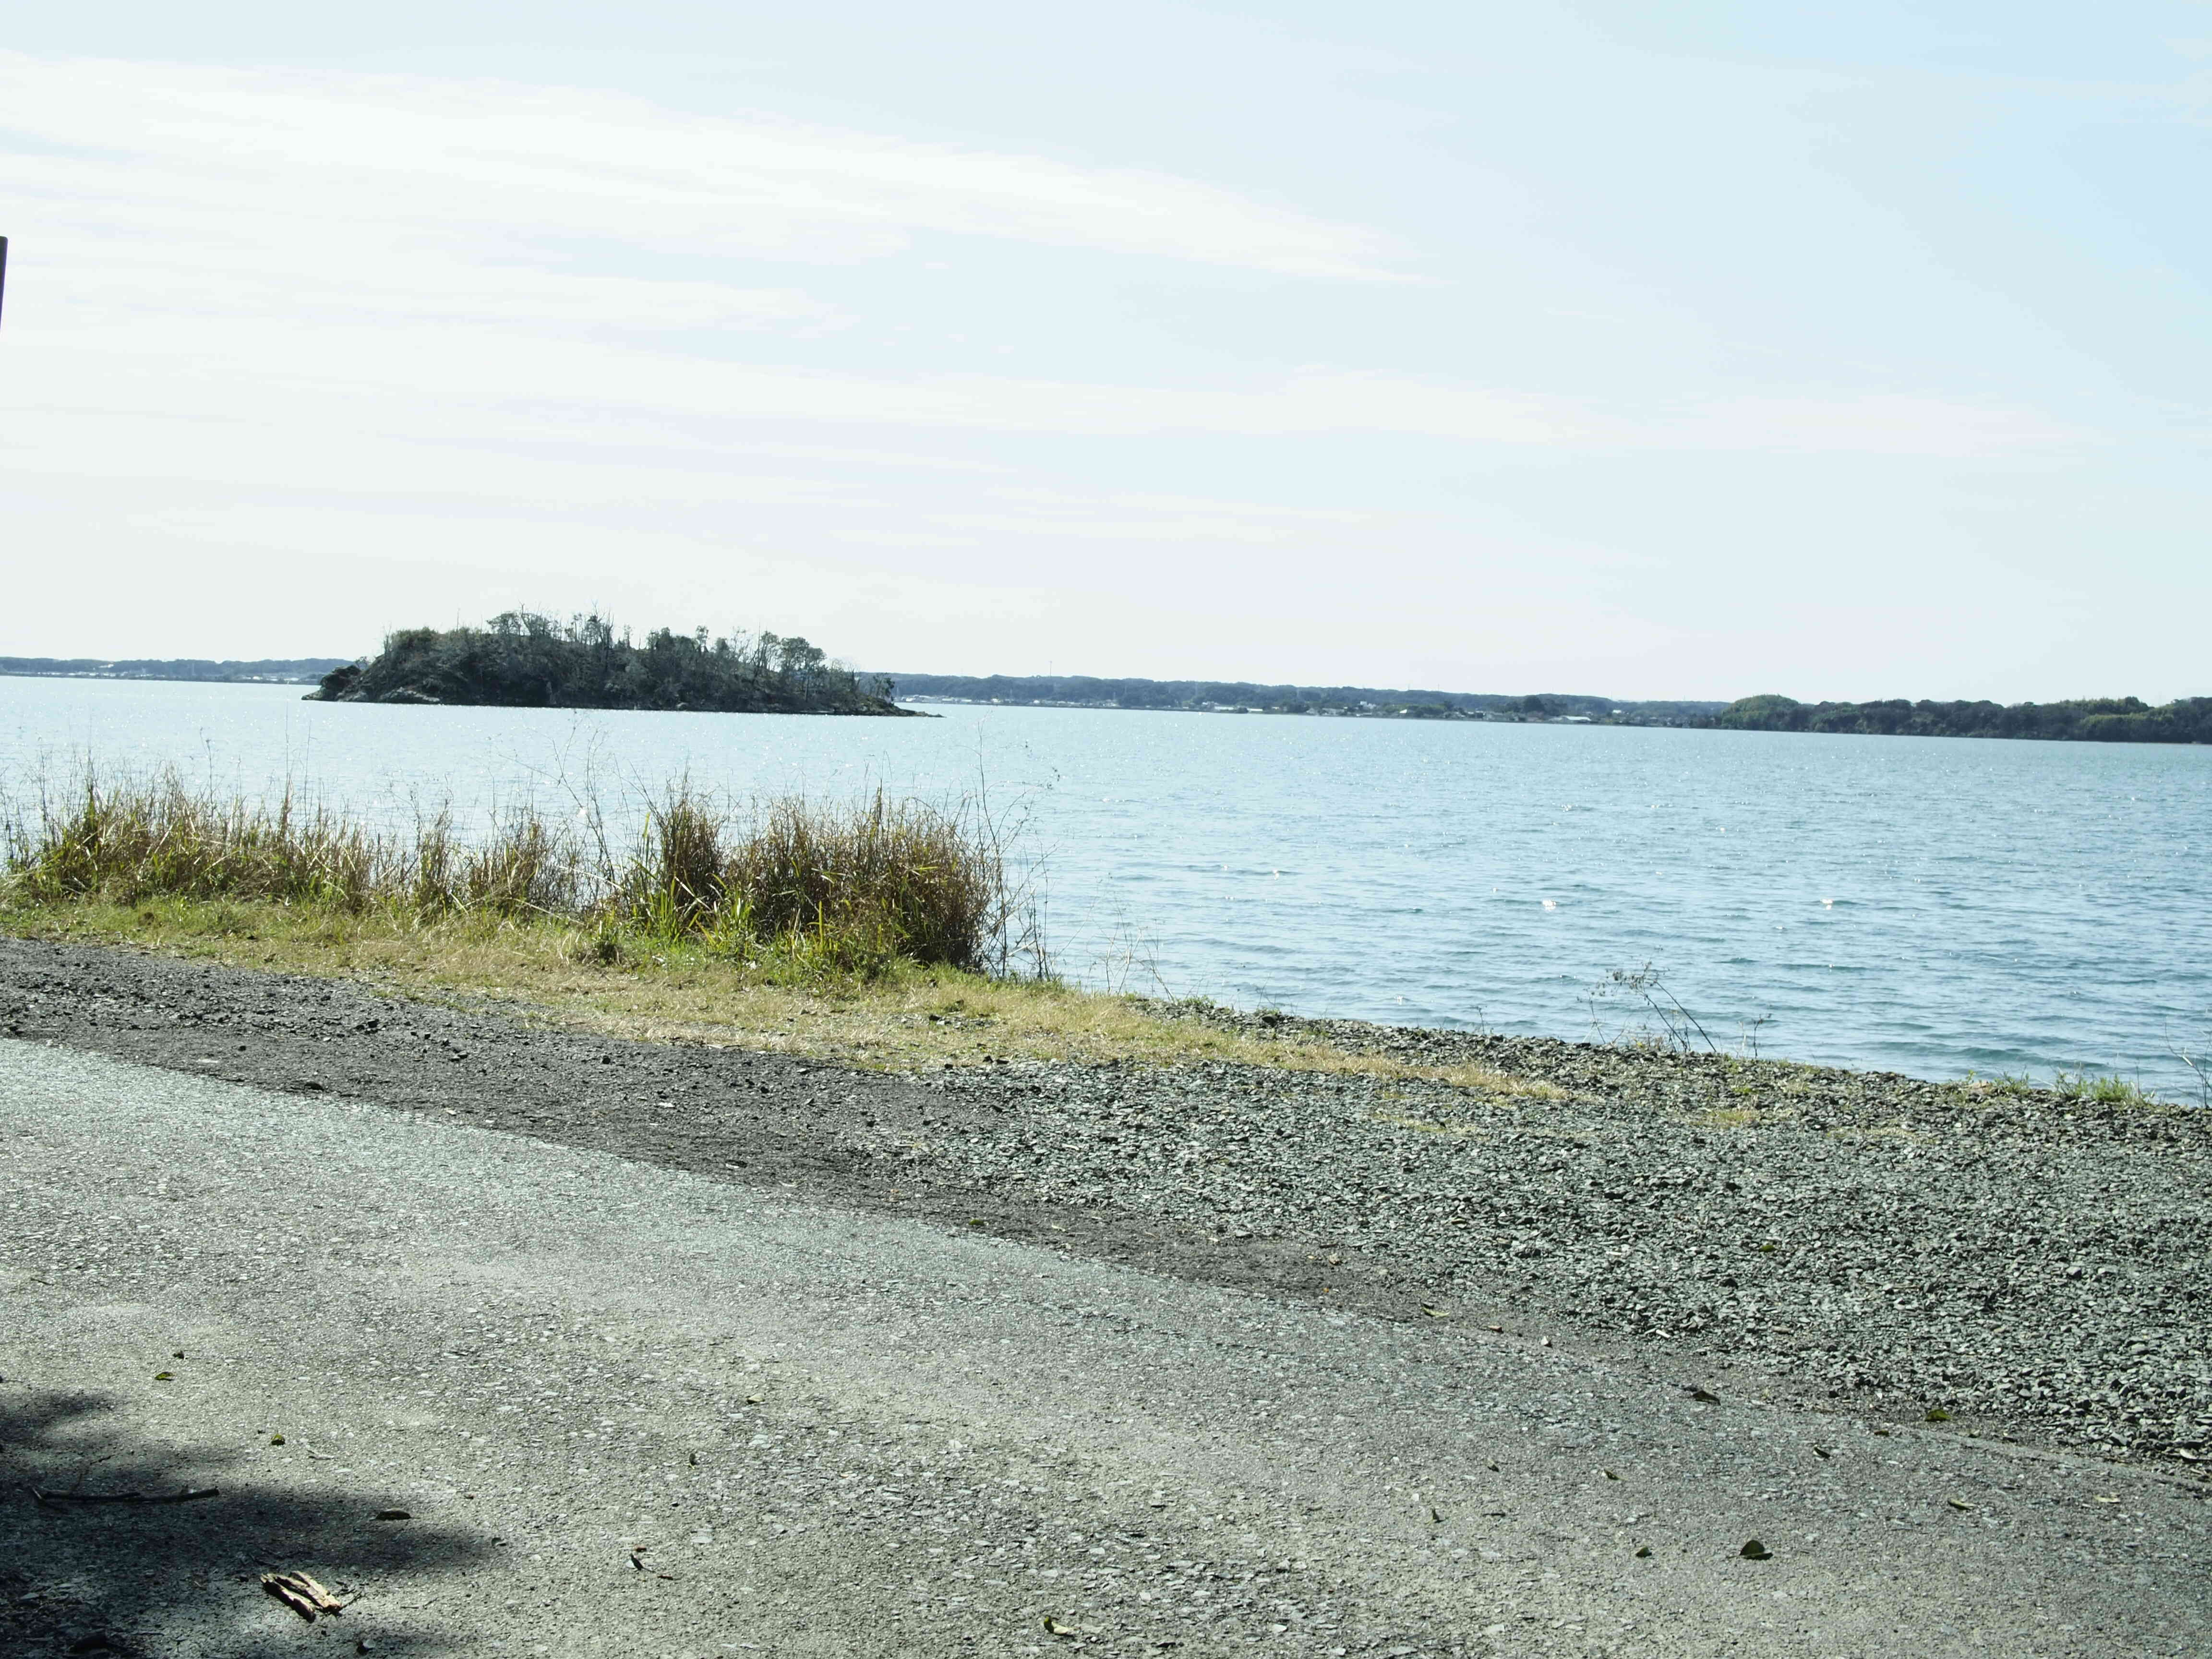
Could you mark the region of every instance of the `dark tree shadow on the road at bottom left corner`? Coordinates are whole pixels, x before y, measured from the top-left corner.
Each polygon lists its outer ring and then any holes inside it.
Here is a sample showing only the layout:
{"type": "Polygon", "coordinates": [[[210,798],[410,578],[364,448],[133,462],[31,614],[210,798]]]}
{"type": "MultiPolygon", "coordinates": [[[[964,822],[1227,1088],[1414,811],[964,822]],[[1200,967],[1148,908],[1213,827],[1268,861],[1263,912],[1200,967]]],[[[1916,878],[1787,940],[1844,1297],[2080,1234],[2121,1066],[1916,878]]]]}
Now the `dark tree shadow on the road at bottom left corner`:
{"type": "Polygon", "coordinates": [[[0,1652],[221,1655],[274,1659],[354,1652],[451,1652],[420,1626],[389,1630],[380,1588],[467,1573],[495,1555],[489,1535],[425,1520],[380,1522],[405,1500],[367,1486],[303,1493],[241,1473],[243,1453],[153,1442],[102,1394],[0,1391],[0,1652]],[[195,1502],[40,1502],[46,1493],[173,1495],[195,1502]],[[261,1586],[263,1573],[305,1571],[365,1599],[307,1626],[261,1586]]]}

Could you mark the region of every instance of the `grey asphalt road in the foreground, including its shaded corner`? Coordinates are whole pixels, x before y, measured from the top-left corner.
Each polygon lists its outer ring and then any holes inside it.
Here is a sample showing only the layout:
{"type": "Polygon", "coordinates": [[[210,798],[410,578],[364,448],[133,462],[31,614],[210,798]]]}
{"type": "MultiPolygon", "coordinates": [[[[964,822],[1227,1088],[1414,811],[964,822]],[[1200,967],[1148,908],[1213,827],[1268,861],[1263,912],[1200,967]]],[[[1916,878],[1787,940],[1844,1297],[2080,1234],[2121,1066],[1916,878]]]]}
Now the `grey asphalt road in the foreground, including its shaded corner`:
{"type": "Polygon", "coordinates": [[[0,1287],[4,1652],[2212,1650],[2203,1482],[31,1042],[0,1287]]]}

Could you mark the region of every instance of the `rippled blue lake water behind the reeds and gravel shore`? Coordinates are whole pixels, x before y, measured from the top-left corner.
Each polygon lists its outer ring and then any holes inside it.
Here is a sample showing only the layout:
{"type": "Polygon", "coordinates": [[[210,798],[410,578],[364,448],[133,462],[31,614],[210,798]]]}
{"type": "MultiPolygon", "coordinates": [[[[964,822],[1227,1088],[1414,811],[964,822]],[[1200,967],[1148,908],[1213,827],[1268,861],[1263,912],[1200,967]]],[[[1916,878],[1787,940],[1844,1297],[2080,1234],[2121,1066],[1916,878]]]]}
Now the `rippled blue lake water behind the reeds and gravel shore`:
{"type": "Polygon", "coordinates": [[[1958,1077],[2212,1048],[2212,748],[940,706],[931,721],[303,703],[0,679],[0,787],[91,754],[387,818],[597,772],[1026,816],[1057,967],[1562,1037],[1646,962],[1732,1048],[1958,1077]],[[1157,980],[1155,980],[1157,975],[1157,980]]]}

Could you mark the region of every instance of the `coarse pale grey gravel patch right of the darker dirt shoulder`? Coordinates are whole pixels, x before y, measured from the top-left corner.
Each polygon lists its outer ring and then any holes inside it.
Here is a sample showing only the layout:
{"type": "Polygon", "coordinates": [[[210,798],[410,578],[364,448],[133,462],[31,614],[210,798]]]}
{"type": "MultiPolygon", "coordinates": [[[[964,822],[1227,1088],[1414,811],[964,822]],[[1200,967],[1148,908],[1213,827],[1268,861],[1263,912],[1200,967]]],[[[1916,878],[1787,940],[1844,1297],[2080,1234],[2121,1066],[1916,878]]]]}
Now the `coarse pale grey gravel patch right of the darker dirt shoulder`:
{"type": "Polygon", "coordinates": [[[1051,1201],[1321,1239],[1484,1314],[1730,1356],[1871,1411],[2212,1460],[2208,1113],[1316,1029],[1568,1097],[1011,1064],[938,1082],[1013,1110],[964,1119],[933,1157],[1051,1201]]]}

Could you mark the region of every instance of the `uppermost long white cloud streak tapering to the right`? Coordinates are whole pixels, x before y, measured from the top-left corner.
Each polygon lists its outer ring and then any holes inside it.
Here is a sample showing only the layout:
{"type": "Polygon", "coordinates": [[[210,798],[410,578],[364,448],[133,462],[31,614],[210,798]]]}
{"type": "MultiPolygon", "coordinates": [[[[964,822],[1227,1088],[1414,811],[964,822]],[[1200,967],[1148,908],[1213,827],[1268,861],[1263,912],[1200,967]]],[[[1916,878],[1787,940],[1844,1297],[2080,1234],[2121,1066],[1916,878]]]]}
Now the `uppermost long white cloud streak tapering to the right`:
{"type": "Polygon", "coordinates": [[[0,111],[18,215],[84,237],[557,263],[858,261],[942,232],[1402,279],[1367,230],[1192,179],[577,88],[0,53],[0,111]]]}

